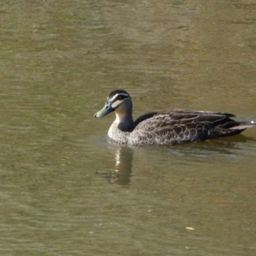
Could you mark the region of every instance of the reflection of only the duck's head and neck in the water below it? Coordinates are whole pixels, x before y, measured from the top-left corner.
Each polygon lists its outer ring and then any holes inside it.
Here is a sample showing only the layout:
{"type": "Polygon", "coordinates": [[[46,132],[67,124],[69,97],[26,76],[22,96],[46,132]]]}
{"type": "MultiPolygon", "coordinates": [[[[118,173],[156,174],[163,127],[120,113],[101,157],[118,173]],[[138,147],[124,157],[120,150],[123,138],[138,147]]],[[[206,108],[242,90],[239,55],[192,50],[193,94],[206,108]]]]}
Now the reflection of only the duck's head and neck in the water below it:
{"type": "Polygon", "coordinates": [[[115,155],[113,170],[96,170],[95,174],[101,175],[111,184],[129,186],[132,176],[133,150],[129,147],[118,147],[115,155]]]}

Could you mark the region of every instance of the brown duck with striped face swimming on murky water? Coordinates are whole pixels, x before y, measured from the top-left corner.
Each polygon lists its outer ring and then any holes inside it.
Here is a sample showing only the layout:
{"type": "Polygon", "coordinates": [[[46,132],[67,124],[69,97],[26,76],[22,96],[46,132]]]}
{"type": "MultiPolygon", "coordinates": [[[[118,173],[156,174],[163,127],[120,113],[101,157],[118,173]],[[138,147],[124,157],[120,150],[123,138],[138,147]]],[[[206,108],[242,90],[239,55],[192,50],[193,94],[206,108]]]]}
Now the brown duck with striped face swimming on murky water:
{"type": "Polygon", "coordinates": [[[109,93],[106,104],[94,117],[115,112],[116,118],[108,130],[108,136],[127,145],[175,145],[193,141],[232,136],[246,128],[255,127],[252,122],[237,122],[228,113],[167,110],[150,112],[135,121],[132,118],[132,99],[125,90],[109,93]]]}

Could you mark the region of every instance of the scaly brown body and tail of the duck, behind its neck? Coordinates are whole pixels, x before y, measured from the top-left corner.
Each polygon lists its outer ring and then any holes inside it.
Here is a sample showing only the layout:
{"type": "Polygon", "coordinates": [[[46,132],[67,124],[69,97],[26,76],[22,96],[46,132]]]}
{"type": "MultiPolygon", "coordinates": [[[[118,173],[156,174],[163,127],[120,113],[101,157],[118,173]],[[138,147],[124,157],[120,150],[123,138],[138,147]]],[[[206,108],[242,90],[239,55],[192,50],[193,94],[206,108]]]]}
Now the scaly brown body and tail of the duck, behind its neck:
{"type": "Polygon", "coordinates": [[[135,121],[132,143],[179,144],[230,136],[244,131],[250,123],[236,122],[228,113],[170,110],[152,112],[135,121]]]}

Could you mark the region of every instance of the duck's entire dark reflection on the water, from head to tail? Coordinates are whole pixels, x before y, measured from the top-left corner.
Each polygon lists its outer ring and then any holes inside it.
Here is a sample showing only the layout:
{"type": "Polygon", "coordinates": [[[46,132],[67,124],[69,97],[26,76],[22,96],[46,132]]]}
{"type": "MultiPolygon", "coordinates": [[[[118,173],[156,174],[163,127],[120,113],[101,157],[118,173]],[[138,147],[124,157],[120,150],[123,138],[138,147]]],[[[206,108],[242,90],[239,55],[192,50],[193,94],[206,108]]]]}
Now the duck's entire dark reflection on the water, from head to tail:
{"type": "Polygon", "coordinates": [[[115,152],[115,166],[110,169],[97,168],[95,175],[100,175],[106,179],[109,184],[116,184],[122,187],[129,187],[132,177],[132,161],[134,155],[138,155],[141,162],[161,162],[170,161],[172,168],[175,165],[191,165],[195,162],[214,163],[217,159],[229,163],[243,159],[244,154],[253,154],[251,147],[255,147],[255,139],[239,134],[236,137],[221,138],[218,140],[204,141],[198,143],[188,143],[184,145],[143,145],[128,147],[127,145],[118,145],[108,140],[108,150],[115,152]],[[251,144],[252,143],[252,144],[251,144]],[[156,161],[154,160],[156,157],[156,161]]]}

